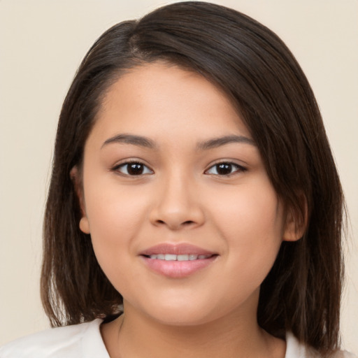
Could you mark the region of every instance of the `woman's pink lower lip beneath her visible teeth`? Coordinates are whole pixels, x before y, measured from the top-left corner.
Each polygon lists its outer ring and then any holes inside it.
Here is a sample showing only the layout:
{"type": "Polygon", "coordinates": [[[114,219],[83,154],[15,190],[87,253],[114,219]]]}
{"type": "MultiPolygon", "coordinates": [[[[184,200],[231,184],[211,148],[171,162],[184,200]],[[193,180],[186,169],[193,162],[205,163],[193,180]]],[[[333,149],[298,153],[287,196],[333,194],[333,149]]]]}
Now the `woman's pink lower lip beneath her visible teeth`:
{"type": "Polygon", "coordinates": [[[196,259],[188,261],[166,261],[159,259],[150,259],[142,256],[143,261],[152,271],[169,278],[185,278],[197,271],[206,268],[215,261],[217,256],[208,259],[196,259]]]}

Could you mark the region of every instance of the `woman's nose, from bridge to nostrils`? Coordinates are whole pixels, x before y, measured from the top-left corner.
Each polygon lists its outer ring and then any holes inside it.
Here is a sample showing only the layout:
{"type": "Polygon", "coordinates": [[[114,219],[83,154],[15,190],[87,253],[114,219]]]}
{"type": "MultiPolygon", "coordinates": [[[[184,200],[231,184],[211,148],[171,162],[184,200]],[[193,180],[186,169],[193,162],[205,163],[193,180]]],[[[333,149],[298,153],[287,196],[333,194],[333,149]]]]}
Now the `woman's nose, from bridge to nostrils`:
{"type": "Polygon", "coordinates": [[[200,227],[205,215],[193,181],[177,173],[157,183],[158,187],[152,193],[155,205],[150,213],[150,222],[173,231],[200,227]]]}

